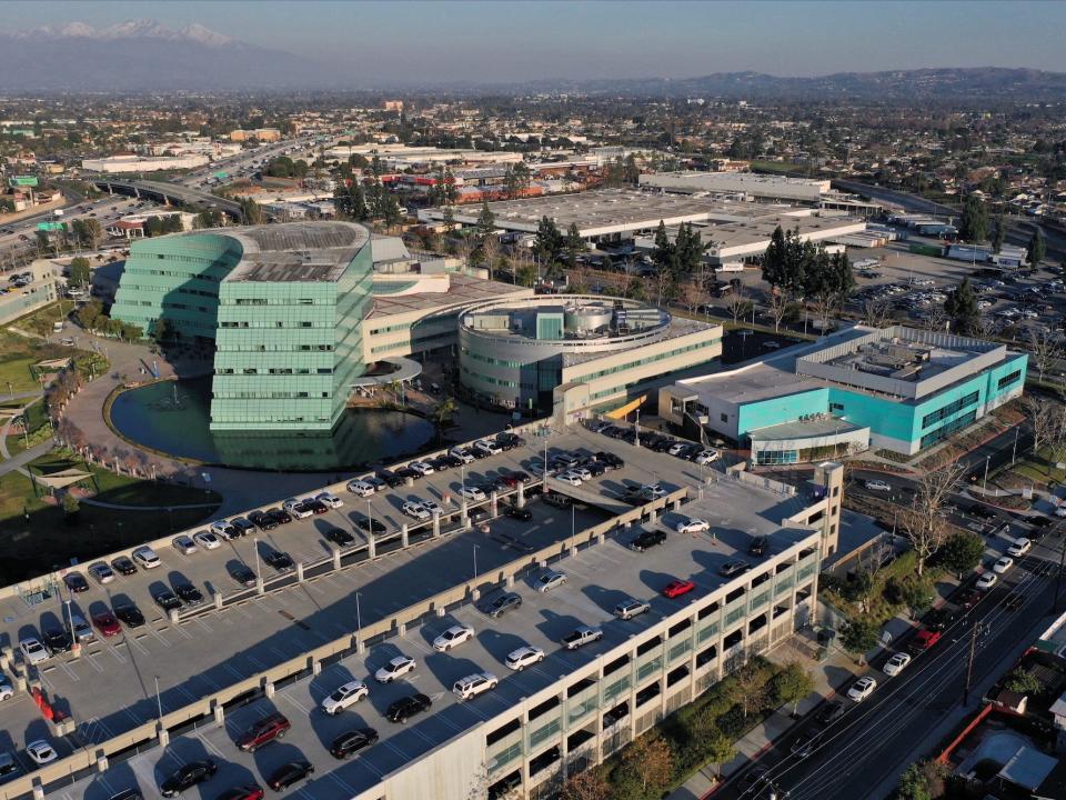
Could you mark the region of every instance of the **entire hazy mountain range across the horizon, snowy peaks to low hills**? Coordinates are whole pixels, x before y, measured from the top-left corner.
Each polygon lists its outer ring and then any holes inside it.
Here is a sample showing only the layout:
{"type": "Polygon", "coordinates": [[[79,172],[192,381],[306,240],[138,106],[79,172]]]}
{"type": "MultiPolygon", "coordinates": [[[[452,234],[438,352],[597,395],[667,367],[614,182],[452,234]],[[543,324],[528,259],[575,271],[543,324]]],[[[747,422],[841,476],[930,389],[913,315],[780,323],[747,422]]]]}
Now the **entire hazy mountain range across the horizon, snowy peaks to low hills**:
{"type": "MultiPolygon", "coordinates": [[[[888,72],[839,72],[782,78],[761,72],[717,72],[700,78],[543,80],[510,86],[449,82],[353,84],[359,70],[339,68],[282,50],[249,44],[201,24],[180,30],[154,20],[109,28],[84,22],[0,32],[0,91],[224,91],[224,90],[444,90],[474,94],[575,92],[621,97],[701,97],[735,100],[1040,101],[1066,98],[1066,74],[984,67],[888,72]]],[[[364,78],[363,80],[369,81],[364,78]]]]}

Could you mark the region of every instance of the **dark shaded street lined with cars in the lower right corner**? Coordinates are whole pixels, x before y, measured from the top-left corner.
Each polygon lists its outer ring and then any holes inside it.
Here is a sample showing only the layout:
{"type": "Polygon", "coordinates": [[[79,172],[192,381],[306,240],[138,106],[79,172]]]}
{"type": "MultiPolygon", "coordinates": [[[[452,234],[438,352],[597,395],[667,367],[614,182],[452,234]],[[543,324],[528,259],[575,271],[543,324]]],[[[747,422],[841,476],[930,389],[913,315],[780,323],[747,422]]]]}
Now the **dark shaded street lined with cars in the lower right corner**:
{"type": "MultiPolygon", "coordinates": [[[[1062,534],[1059,534],[1062,536],[1062,534]]],[[[817,746],[806,759],[791,753],[795,737],[818,731],[814,720],[804,722],[768,752],[761,766],[770,768],[780,791],[790,800],[879,800],[917,752],[935,747],[962,718],[961,701],[966,676],[966,657],[975,622],[987,632],[977,638],[973,683],[975,687],[1000,674],[1025,644],[1046,627],[1058,569],[1059,538],[1047,540],[1033,554],[1000,579],[968,617],[945,633],[931,651],[918,656],[896,678],[879,670],[868,674],[878,681],[876,692],[864,703],[844,700],[844,716],[821,730],[817,746]],[[1055,558],[1055,561],[1049,559],[1055,558]],[[1009,591],[1020,592],[1024,607],[1012,611],[1003,600],[1009,591]]],[[[976,691],[974,692],[976,696],[976,691]]],[[[969,711],[976,708],[971,698],[969,711]]],[[[766,798],[727,787],[721,797],[766,798]]]]}

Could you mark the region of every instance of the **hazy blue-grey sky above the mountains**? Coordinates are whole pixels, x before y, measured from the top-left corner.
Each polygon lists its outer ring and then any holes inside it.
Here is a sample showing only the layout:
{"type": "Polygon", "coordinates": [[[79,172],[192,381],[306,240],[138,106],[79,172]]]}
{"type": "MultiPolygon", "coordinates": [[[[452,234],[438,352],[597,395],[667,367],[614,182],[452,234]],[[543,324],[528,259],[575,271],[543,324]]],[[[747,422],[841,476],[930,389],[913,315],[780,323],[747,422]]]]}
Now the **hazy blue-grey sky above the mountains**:
{"type": "MultiPolygon", "coordinates": [[[[151,18],[329,60],[366,80],[781,76],[921,67],[1066,71],[1066,2],[33,2],[0,26],[151,18]]],[[[359,81],[362,82],[362,81],[359,81]]]]}

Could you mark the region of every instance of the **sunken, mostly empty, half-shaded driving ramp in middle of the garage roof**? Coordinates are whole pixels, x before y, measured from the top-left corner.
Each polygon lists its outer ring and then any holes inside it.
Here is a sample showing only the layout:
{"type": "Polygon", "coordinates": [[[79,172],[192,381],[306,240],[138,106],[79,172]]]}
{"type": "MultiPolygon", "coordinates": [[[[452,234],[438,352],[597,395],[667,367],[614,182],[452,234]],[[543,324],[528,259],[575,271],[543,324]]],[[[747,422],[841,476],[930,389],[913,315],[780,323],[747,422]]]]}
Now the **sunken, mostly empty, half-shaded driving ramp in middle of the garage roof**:
{"type": "MultiPolygon", "coordinates": [[[[537,503],[533,503],[536,509],[537,503]]],[[[554,512],[555,509],[552,509],[554,512]]],[[[587,526],[602,516],[581,512],[587,526]]],[[[499,521],[497,532],[544,547],[567,534],[553,513],[534,510],[529,530],[515,520],[499,521]],[[549,520],[552,520],[551,522],[549,520]]],[[[331,572],[313,582],[253,596],[221,612],[180,626],[160,622],[123,631],[87,646],[79,659],[57,657],[37,670],[50,698],[81,721],[88,741],[102,741],[157,713],[153,678],[159,677],[164,712],[187,706],[295,658],[338,637],[451,587],[456,576],[473,574],[473,558],[489,574],[515,558],[515,549],[477,531],[445,537],[413,550],[331,572]],[[477,546],[476,556],[474,544],[477,546]],[[394,570],[403,570],[396,581],[394,570]],[[353,607],[359,592],[359,613],[353,607]]]]}

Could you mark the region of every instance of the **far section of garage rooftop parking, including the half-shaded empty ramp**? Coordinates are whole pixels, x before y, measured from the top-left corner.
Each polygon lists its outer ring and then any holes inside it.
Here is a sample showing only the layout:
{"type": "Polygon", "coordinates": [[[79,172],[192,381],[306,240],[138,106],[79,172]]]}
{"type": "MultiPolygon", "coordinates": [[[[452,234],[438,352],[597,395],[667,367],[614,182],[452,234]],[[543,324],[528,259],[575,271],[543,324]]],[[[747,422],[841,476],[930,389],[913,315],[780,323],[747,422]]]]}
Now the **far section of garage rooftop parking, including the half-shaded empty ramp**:
{"type": "MultiPolygon", "coordinates": [[[[467,467],[466,480],[473,482],[485,474],[516,469],[533,476],[541,466],[543,447],[544,440],[537,439],[524,448],[476,461],[467,467]]],[[[607,450],[626,460],[624,469],[607,472],[582,488],[555,487],[579,497],[603,498],[609,508],[623,507],[616,498],[627,484],[657,480],[667,490],[685,484],[694,487],[702,474],[710,471],[664,453],[643,448],[636,451],[623,441],[584,430],[553,437],[549,442],[550,458],[561,449],[586,454],[607,450]],[[638,458],[633,458],[637,453],[638,458]]],[[[371,512],[375,520],[383,521],[388,531],[380,538],[391,537],[399,544],[395,530],[409,521],[399,507],[412,496],[442,501],[446,493],[457,496],[461,483],[462,471],[453,469],[420,479],[413,487],[373,496],[371,512]]],[[[572,531],[587,528],[606,516],[594,508],[594,503],[570,510],[534,499],[529,506],[533,514],[530,521],[501,517],[489,523],[487,533],[480,526],[470,531],[460,529],[435,540],[431,538],[420,547],[396,549],[370,561],[362,554],[364,536],[354,524],[366,510],[365,500],[349,493],[343,500],[343,507],[325,514],[262,531],[257,537],[259,542],[248,537],[192,556],[167,548],[159,552],[162,564],[158,569],[118,577],[105,586],[90,580],[84,592],[71,597],[64,591],[61,598],[52,597],[33,607],[21,599],[7,600],[0,606],[3,619],[0,643],[14,647],[21,638],[39,636],[43,628],[60,626],[68,613],[62,601],[68,599],[71,610],[87,618],[122,601],[135,603],[147,618],[143,627],[123,629],[111,639],[98,638],[83,648],[80,658],[59,654],[30,670],[31,677],[40,679],[49,701],[74,717],[80,737],[86,742],[99,742],[154,719],[160,707],[164,713],[180,708],[209,691],[351,634],[360,624],[385,618],[470,579],[475,570],[479,576],[486,574],[513,560],[520,548],[537,549],[563,540],[572,531]],[[228,564],[234,560],[254,566],[254,549],[266,544],[290,552],[298,561],[322,560],[330,552],[323,532],[334,526],[356,538],[350,552],[359,550],[360,560],[345,558],[340,570],[329,563],[319,572],[309,571],[303,583],[294,579],[279,581],[283,586],[273,591],[268,582],[268,591],[262,597],[257,597],[254,589],[237,586],[228,574],[228,564]],[[396,576],[403,577],[402,582],[396,576]],[[152,596],[178,582],[190,582],[201,589],[207,596],[205,606],[210,606],[215,589],[230,598],[237,592],[252,600],[227,604],[221,611],[173,624],[154,604],[152,596]]],[[[269,568],[261,562],[259,569],[265,577],[269,568]]],[[[26,742],[47,732],[40,712],[24,694],[17,694],[4,703],[3,720],[0,751],[20,750],[26,742]]],[[[60,756],[72,747],[66,741],[53,743],[60,756]]]]}

